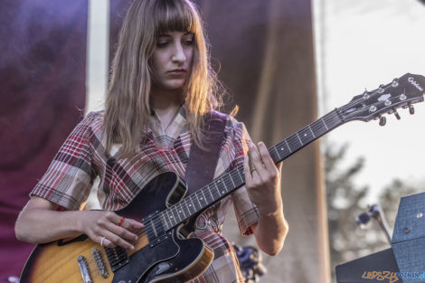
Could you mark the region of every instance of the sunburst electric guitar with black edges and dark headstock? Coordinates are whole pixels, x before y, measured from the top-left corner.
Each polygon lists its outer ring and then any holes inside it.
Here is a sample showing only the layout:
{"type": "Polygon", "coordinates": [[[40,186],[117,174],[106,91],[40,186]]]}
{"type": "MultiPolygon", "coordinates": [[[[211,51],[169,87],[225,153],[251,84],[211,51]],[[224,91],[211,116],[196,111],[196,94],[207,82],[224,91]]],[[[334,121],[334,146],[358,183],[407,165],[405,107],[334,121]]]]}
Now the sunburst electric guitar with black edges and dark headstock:
{"type": "MultiPolygon", "coordinates": [[[[322,118],[269,148],[275,163],[346,122],[380,119],[386,113],[400,118],[397,108],[409,108],[423,101],[425,77],[407,73],[364,91],[345,106],[335,108],[322,118]]],[[[135,250],[127,252],[100,245],[86,235],[75,239],[38,245],[24,267],[22,283],[155,283],[187,282],[203,274],[213,261],[213,251],[202,240],[188,238],[188,223],[213,203],[245,184],[243,167],[213,180],[184,198],[184,181],[173,172],[157,175],[118,215],[141,220],[145,230],[135,250]],[[162,202],[160,202],[162,200],[162,202]]]]}

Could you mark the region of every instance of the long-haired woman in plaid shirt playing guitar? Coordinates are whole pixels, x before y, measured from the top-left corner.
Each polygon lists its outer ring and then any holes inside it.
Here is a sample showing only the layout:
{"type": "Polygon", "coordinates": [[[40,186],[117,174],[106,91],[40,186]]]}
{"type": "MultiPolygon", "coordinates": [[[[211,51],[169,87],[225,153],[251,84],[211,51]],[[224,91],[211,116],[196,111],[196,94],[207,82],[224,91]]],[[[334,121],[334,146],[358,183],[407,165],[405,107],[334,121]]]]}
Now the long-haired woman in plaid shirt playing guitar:
{"type": "MultiPolygon", "coordinates": [[[[143,224],[113,211],[143,194],[143,186],[161,172],[184,177],[190,147],[203,146],[204,115],[220,106],[206,46],[202,21],[189,0],[136,0],[130,6],[106,108],[91,112],[61,146],[16,221],[19,240],[44,243],[84,233],[105,247],[134,249],[143,224]],[[105,211],[80,210],[96,176],[105,211]]],[[[270,255],[282,249],[288,232],[280,166],[263,143],[250,143],[243,124],[226,116],[214,176],[242,164],[246,185],[196,222],[194,235],[215,253],[210,269],[197,279],[201,282],[243,281],[235,253],[220,231],[231,201],[241,233],[253,233],[270,255]]]]}

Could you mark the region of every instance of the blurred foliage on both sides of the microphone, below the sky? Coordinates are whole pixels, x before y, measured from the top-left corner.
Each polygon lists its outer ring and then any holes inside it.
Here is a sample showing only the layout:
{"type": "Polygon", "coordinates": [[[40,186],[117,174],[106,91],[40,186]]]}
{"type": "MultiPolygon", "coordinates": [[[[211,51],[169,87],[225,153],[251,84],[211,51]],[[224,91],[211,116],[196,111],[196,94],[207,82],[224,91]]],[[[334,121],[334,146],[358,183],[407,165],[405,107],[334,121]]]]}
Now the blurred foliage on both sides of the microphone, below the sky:
{"type": "MultiPolygon", "coordinates": [[[[354,177],[364,168],[364,158],[357,157],[353,164],[344,165],[347,152],[347,145],[329,144],[324,151],[329,246],[334,282],[335,265],[390,247],[376,221],[371,220],[365,229],[360,229],[355,221],[360,213],[368,210],[365,197],[369,187],[359,186],[354,182],[354,177]]],[[[379,205],[391,232],[401,197],[420,193],[420,187],[420,184],[394,179],[383,188],[379,195],[379,205]]]]}

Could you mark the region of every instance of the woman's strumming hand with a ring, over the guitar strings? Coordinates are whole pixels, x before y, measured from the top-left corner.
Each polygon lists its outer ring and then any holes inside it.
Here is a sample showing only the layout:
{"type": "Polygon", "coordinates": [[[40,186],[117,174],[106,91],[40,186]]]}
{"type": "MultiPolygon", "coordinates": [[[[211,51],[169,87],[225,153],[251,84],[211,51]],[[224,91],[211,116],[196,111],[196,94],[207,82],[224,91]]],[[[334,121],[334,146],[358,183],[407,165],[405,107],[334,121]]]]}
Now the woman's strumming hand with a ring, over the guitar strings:
{"type": "Polygon", "coordinates": [[[143,231],[143,224],[133,219],[124,218],[115,212],[83,211],[80,217],[80,230],[104,247],[120,246],[134,250],[138,234],[143,231]]]}

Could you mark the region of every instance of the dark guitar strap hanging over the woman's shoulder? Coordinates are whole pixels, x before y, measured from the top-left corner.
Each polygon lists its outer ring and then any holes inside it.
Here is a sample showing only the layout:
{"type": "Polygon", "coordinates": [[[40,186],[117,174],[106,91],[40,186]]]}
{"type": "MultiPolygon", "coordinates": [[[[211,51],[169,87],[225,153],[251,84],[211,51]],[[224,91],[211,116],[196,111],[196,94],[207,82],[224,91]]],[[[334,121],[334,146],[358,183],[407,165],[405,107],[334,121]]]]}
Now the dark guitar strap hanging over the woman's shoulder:
{"type": "Polygon", "coordinates": [[[210,111],[205,115],[203,123],[204,148],[197,146],[194,142],[192,143],[184,176],[188,194],[196,192],[205,184],[213,181],[224,137],[226,120],[227,117],[217,111],[210,111]]]}

